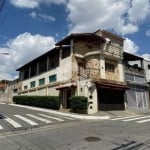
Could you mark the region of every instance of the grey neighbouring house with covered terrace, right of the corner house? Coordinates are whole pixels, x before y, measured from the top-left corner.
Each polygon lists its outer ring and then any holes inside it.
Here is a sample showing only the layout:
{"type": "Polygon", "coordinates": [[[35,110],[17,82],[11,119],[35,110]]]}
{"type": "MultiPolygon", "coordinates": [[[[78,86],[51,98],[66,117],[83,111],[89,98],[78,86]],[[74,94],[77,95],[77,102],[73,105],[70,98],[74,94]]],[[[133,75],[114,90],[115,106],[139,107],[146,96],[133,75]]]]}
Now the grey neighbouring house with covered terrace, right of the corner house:
{"type": "Polygon", "coordinates": [[[128,108],[148,108],[149,94],[145,77],[144,59],[124,52],[125,80],[129,86],[126,90],[128,108]]]}

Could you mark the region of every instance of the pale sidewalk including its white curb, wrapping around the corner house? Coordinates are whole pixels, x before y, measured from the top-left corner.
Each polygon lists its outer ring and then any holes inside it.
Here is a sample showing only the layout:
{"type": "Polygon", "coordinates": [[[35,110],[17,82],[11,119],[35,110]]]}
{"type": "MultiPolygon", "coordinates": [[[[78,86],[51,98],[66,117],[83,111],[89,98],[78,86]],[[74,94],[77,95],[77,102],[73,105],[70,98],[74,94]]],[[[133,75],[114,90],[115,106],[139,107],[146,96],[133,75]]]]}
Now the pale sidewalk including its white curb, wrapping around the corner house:
{"type": "Polygon", "coordinates": [[[71,112],[62,112],[59,110],[51,110],[46,108],[39,108],[39,107],[32,107],[32,106],[25,106],[25,105],[17,105],[17,104],[9,104],[9,105],[41,111],[41,112],[48,112],[56,115],[63,115],[63,116],[72,117],[81,120],[107,120],[110,118],[117,118],[117,117],[150,115],[150,109],[127,109],[125,111],[99,111],[96,114],[87,115],[87,114],[76,114],[71,112]]]}

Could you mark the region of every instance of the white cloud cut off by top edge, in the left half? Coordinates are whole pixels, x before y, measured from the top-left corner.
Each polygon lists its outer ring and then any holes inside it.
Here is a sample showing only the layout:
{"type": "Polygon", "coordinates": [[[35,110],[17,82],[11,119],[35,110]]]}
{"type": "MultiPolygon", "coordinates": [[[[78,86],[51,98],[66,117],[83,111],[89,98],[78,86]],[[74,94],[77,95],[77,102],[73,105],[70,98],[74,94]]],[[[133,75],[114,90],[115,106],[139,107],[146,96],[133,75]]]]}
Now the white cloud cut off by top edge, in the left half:
{"type": "Polygon", "coordinates": [[[11,4],[19,8],[38,8],[41,4],[65,4],[66,0],[10,0],[11,4]]]}

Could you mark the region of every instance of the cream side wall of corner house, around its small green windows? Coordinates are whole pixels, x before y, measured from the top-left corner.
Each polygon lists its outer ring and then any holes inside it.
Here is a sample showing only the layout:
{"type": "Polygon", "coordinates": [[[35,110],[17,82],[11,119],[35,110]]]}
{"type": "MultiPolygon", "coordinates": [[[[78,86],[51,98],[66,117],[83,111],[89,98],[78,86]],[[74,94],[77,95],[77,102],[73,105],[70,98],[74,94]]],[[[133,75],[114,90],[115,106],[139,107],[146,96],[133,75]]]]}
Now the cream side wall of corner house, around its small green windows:
{"type": "Polygon", "coordinates": [[[71,56],[63,58],[60,61],[60,65],[56,67],[55,69],[49,70],[40,75],[21,81],[22,90],[20,91],[20,93],[23,92],[21,95],[49,95],[51,93],[53,93],[54,95],[59,95],[59,92],[55,89],[55,87],[51,87],[51,86],[54,83],[56,83],[55,86],[58,86],[60,82],[71,80],[72,78],[71,60],[72,60],[71,56]],[[57,78],[56,82],[51,83],[49,81],[49,77],[52,75],[56,75],[56,78],[57,78]],[[44,85],[42,85],[44,86],[43,88],[41,88],[42,86],[39,85],[40,79],[45,79],[45,83],[44,85]],[[35,81],[35,87],[31,88],[31,82],[34,82],[34,81],[35,81]],[[27,86],[27,89],[25,89],[26,86],[27,86]],[[27,92],[24,93],[24,91],[27,91],[27,92]]]}

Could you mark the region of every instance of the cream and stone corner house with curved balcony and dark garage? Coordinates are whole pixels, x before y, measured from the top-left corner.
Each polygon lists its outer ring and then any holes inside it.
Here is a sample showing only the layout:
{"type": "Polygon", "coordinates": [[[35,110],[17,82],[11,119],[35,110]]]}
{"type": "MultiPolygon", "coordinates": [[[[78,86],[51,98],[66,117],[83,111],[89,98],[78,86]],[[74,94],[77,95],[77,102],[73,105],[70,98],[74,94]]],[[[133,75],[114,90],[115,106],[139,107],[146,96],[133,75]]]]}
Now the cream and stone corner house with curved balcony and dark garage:
{"type": "Polygon", "coordinates": [[[123,72],[124,39],[105,30],[71,34],[55,48],[17,69],[21,95],[59,95],[88,98],[88,114],[125,109],[127,85],[123,72]]]}

